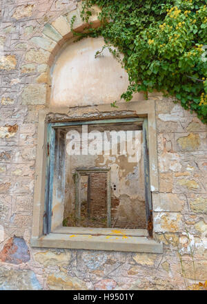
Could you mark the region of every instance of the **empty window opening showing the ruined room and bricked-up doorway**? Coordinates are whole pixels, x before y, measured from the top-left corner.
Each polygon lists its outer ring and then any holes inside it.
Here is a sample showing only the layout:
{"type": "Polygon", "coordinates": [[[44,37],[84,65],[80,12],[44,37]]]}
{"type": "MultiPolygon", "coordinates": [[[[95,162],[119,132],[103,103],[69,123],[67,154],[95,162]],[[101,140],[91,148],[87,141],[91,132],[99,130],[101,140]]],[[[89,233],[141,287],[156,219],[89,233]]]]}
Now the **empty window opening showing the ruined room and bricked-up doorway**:
{"type": "Polygon", "coordinates": [[[81,122],[53,124],[46,231],[60,226],[147,229],[144,119],[114,121],[91,122],[87,128],[81,122]]]}

